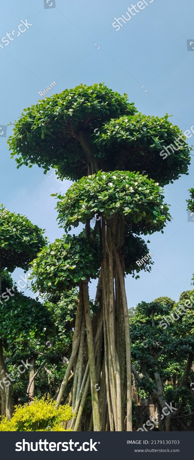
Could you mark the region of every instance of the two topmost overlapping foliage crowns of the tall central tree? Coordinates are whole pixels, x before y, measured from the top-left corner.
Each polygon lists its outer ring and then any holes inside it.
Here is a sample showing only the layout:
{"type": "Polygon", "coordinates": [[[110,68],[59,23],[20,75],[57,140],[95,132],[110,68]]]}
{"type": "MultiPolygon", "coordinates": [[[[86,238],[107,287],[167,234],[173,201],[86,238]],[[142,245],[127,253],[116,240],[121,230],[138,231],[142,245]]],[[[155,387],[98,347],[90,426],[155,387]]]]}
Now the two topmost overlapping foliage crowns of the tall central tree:
{"type": "Polygon", "coordinates": [[[80,85],[24,109],[8,140],[12,155],[21,155],[17,167],[38,164],[45,173],[53,167],[62,179],[80,179],[88,164],[79,141],[83,133],[104,171],[146,170],[161,185],[187,174],[191,148],[186,142],[165,161],[160,156],[163,145],[173,144],[182,131],[167,114],[137,113],[126,98],[101,83],[80,85]]]}

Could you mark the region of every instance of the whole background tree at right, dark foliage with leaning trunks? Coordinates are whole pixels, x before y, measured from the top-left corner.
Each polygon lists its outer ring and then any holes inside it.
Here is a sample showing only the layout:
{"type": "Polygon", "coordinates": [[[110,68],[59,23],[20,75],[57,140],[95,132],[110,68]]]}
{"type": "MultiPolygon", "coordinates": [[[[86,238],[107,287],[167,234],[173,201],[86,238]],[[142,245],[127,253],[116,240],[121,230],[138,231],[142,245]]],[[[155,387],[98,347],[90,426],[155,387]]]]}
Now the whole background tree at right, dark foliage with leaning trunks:
{"type": "Polygon", "coordinates": [[[185,431],[193,422],[193,294],[183,292],[179,304],[167,297],[142,302],[130,318],[132,372],[137,387],[157,406],[152,426],[150,421],[144,425],[147,431],[154,425],[161,431],[185,431]]]}

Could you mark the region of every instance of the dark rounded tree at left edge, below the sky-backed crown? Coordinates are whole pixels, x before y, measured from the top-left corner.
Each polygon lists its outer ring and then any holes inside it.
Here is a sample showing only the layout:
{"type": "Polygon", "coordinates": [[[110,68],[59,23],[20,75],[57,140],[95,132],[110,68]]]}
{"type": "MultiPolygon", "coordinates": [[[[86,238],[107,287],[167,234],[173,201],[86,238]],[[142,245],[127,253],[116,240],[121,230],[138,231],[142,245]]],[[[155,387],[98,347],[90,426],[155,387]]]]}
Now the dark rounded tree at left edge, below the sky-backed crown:
{"type": "MultiPolygon", "coordinates": [[[[6,364],[9,360],[4,361],[3,349],[7,352],[9,348],[14,349],[17,344],[17,355],[18,348],[20,355],[23,360],[29,358],[28,348],[24,347],[25,342],[29,342],[30,339],[39,338],[44,336],[44,341],[48,337],[49,332],[53,329],[53,322],[49,311],[40,302],[35,299],[23,295],[23,293],[17,292],[17,287],[11,280],[11,276],[7,273],[4,277],[3,272],[2,286],[6,286],[10,289],[14,288],[14,294],[7,299],[0,308],[0,342],[1,342],[1,357],[0,357],[0,381],[1,381],[1,416],[6,415],[7,419],[11,418],[13,405],[11,398],[11,382],[14,381],[13,374],[9,374],[6,364]],[[22,353],[23,352],[23,353],[22,353]],[[11,375],[11,377],[7,377],[11,375]],[[9,392],[8,392],[9,389],[9,392]],[[6,396],[6,399],[5,397],[6,396]]],[[[25,361],[24,361],[25,363],[25,361]]],[[[17,362],[17,366],[21,362],[17,362]]],[[[25,371],[28,368],[24,368],[25,371]]],[[[21,371],[22,372],[22,371],[21,371]]],[[[27,374],[28,374],[27,370],[27,374]]],[[[17,371],[15,374],[20,377],[20,373],[17,371]]]]}

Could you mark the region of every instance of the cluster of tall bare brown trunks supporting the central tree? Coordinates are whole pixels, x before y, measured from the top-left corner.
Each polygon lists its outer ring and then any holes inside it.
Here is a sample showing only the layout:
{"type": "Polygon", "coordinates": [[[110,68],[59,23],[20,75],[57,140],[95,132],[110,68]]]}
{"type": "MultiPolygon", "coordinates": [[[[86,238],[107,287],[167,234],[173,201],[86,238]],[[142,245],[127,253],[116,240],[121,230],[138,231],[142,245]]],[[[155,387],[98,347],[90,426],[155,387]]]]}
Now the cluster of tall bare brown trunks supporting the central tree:
{"type": "MultiPolygon", "coordinates": [[[[87,148],[89,146],[85,145],[87,148]]],[[[82,316],[79,309],[76,314],[72,355],[57,397],[57,407],[74,367],[72,409],[77,415],[71,421],[71,428],[74,431],[91,429],[93,424],[94,431],[124,431],[126,417],[126,429],[132,431],[130,332],[124,283],[125,221],[119,213],[110,219],[102,216],[98,229],[103,257],[95,303],[102,307],[91,318],[88,280],[82,282],[79,302],[81,300],[84,310],[82,316]],[[87,339],[84,342],[85,322],[87,339]],[[82,414],[88,388],[91,389],[92,410],[84,421],[82,414]]],[[[88,232],[91,232],[89,222],[86,237],[88,232]]]]}

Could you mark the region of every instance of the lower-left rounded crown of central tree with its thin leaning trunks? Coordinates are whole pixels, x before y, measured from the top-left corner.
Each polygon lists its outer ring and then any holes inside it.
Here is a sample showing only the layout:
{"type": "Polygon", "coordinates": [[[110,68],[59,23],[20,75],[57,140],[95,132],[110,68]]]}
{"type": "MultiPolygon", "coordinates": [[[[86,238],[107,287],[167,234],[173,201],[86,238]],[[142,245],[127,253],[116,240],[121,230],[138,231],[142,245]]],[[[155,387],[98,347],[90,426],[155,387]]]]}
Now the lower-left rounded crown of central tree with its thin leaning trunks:
{"type": "MultiPolygon", "coordinates": [[[[80,286],[82,282],[86,281],[87,277],[96,278],[99,270],[99,246],[97,243],[94,244],[92,236],[85,238],[84,233],[81,232],[78,236],[65,236],[61,240],[56,240],[51,243],[48,247],[43,247],[42,251],[38,253],[37,258],[33,261],[32,276],[35,276],[35,282],[33,284],[34,291],[40,291],[40,293],[61,293],[66,289],[71,289],[75,286],[80,286]]],[[[90,321],[90,303],[88,299],[87,308],[87,320],[86,327],[89,330],[90,339],[89,347],[92,341],[92,328],[90,321]]],[[[79,380],[81,384],[82,372],[83,372],[83,345],[85,337],[85,316],[84,316],[84,305],[83,305],[83,293],[79,292],[78,306],[76,313],[76,321],[74,327],[74,336],[72,343],[72,353],[68,362],[65,376],[63,378],[59,395],[57,397],[57,406],[61,402],[64,391],[68,384],[68,378],[71,369],[76,360],[77,368],[80,367],[79,380]],[[81,344],[80,344],[81,340],[81,344]],[[76,359],[78,348],[79,356],[76,359]],[[82,350],[82,352],[81,352],[82,350]]],[[[92,366],[92,364],[91,364],[92,366]]],[[[87,367],[88,372],[88,367],[87,367]]],[[[77,372],[76,372],[77,374],[77,372]]],[[[91,368],[92,374],[92,368],[91,368]]],[[[78,375],[77,375],[78,377],[78,375]]],[[[91,393],[95,403],[97,405],[97,391],[95,389],[96,378],[93,369],[92,374],[92,386],[91,393]]],[[[86,384],[86,381],[85,381],[86,384]]],[[[89,380],[87,380],[86,386],[88,387],[89,380]]],[[[85,388],[85,385],[84,385],[85,388]]],[[[75,392],[77,388],[75,387],[75,392]]],[[[78,391],[79,393],[79,391],[78,391]]],[[[87,394],[87,388],[86,388],[87,394]]],[[[96,406],[95,406],[96,407],[96,406]]]]}

